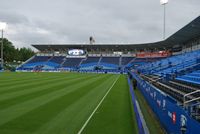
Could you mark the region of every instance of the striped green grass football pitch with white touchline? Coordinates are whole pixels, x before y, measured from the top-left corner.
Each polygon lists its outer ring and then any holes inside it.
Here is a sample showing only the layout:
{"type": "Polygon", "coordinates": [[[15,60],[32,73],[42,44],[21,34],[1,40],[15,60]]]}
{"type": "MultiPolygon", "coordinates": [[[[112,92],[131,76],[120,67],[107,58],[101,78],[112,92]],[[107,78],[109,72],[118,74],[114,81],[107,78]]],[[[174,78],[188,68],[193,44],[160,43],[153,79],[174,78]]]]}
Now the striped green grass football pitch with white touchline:
{"type": "Polygon", "coordinates": [[[0,134],[137,134],[125,75],[0,73],[0,134]]]}

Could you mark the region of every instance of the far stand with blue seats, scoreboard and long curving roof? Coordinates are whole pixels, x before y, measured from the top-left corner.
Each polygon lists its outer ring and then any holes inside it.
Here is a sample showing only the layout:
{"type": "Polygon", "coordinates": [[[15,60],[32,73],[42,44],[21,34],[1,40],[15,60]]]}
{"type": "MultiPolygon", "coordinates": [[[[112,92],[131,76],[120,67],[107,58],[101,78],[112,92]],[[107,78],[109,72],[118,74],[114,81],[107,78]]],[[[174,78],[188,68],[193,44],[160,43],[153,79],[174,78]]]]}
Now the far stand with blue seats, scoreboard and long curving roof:
{"type": "Polygon", "coordinates": [[[38,54],[18,70],[124,71],[171,55],[200,48],[200,17],[166,40],[144,44],[33,44],[38,54]],[[82,51],[77,53],[75,51],[82,51]],[[71,54],[69,54],[71,52],[71,54]]]}

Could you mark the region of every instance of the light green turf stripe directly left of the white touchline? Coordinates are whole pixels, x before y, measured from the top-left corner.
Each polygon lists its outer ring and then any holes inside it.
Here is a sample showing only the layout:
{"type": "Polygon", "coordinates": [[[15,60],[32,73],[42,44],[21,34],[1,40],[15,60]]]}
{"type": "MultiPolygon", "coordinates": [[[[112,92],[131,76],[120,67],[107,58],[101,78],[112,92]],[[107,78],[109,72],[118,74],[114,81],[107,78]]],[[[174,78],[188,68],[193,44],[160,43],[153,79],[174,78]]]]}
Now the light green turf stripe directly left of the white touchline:
{"type": "Polygon", "coordinates": [[[89,114],[94,110],[96,105],[105,95],[109,87],[116,78],[113,75],[103,81],[88,92],[88,94],[79,98],[75,103],[65,108],[51,121],[43,124],[35,134],[75,134],[87,120],[89,114]]]}

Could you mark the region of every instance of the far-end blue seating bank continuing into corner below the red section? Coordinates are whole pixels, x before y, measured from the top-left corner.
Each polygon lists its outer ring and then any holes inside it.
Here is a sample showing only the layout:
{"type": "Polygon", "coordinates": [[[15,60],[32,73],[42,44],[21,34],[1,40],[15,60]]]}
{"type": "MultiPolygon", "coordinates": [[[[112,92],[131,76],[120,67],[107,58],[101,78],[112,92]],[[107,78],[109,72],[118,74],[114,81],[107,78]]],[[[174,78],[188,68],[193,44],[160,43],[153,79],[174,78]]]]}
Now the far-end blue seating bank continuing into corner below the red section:
{"type": "Polygon", "coordinates": [[[88,57],[66,57],[66,56],[34,56],[17,70],[58,70],[58,69],[79,69],[79,70],[101,70],[118,71],[133,65],[142,65],[146,59],[120,56],[88,56],[88,57]],[[38,69],[37,69],[38,70],[38,69]]]}

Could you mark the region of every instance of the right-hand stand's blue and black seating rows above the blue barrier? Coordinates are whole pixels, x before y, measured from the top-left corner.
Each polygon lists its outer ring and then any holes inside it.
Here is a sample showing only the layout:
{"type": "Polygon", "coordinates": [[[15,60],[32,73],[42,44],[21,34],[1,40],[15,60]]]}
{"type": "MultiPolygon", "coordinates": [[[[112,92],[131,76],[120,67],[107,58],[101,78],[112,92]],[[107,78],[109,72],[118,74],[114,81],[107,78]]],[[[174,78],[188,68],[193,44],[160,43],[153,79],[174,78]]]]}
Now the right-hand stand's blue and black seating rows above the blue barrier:
{"type": "Polygon", "coordinates": [[[196,107],[200,103],[200,50],[146,62],[136,70],[143,80],[166,93],[174,104],[200,121],[200,107],[196,107]],[[192,108],[187,109],[188,105],[192,108]]]}

